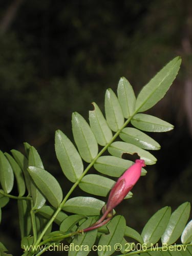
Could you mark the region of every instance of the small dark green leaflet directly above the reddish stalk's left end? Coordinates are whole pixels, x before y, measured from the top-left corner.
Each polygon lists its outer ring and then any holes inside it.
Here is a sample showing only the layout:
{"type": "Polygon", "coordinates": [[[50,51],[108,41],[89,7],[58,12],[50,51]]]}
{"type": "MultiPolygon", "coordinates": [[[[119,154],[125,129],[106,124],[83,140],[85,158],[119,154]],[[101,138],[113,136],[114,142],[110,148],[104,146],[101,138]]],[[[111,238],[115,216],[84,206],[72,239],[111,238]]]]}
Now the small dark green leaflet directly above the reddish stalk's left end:
{"type": "MultiPolygon", "coordinates": [[[[72,228],[76,226],[76,224],[80,221],[86,219],[86,216],[84,215],[71,215],[67,217],[65,220],[62,221],[60,224],[59,230],[66,232],[66,231],[75,231],[72,228]]],[[[76,226],[77,227],[77,226],[76,226]]]]}

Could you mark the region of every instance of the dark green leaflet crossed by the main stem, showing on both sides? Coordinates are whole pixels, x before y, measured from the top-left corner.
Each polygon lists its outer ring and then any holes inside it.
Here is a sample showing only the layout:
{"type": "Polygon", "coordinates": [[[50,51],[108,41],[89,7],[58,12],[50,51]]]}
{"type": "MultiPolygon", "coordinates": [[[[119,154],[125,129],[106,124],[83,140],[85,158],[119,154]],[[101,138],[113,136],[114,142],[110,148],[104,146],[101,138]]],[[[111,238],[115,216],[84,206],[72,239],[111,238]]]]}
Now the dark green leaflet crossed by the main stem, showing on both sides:
{"type": "MultiPolygon", "coordinates": [[[[40,214],[42,217],[45,217],[46,219],[50,220],[51,217],[54,215],[55,212],[55,208],[48,206],[48,205],[44,205],[42,206],[42,208],[36,210],[35,212],[37,212],[38,214],[40,214]]],[[[58,215],[56,216],[56,218],[54,219],[54,222],[57,225],[60,225],[61,222],[63,220],[65,220],[68,217],[67,214],[65,214],[65,212],[63,212],[62,210],[59,211],[58,215]]]]}

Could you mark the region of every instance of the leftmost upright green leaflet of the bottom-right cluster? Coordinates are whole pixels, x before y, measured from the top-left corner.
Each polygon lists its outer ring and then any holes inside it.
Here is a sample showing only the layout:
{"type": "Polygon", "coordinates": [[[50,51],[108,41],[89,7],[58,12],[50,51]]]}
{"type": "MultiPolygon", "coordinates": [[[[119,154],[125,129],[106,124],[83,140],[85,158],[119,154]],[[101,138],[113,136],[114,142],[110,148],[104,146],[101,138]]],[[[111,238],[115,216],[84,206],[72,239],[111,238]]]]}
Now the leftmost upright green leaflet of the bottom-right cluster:
{"type": "Polygon", "coordinates": [[[166,206],[158,210],[144,226],[141,237],[147,247],[155,244],[161,238],[170,218],[170,207],[166,206]]]}

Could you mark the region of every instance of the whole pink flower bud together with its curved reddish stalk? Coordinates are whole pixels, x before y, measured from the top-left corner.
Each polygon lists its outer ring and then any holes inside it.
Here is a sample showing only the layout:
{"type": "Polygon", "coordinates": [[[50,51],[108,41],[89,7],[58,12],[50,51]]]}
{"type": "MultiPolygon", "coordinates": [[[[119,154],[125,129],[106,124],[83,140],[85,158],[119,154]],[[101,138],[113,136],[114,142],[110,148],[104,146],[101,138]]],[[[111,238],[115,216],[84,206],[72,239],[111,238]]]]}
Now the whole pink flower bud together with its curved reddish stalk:
{"type": "Polygon", "coordinates": [[[79,232],[87,232],[101,227],[112,219],[113,209],[124,199],[124,197],[136,184],[141,176],[141,168],[143,166],[145,166],[145,161],[142,159],[137,159],[135,163],[124,172],[124,174],[117,180],[111,189],[108,202],[102,209],[102,217],[91,227],[79,230],[79,232]]]}

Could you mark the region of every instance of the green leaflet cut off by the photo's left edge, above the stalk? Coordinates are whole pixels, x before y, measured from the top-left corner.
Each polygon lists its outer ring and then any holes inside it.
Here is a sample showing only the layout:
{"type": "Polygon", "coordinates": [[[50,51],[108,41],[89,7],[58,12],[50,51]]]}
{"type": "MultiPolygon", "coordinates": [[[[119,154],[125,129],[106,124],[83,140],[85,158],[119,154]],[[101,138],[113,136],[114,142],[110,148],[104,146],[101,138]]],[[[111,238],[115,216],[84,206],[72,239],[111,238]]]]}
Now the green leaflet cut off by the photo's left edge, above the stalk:
{"type": "Polygon", "coordinates": [[[4,192],[9,194],[13,188],[14,175],[11,165],[2,151],[0,151],[0,182],[4,192]]]}

